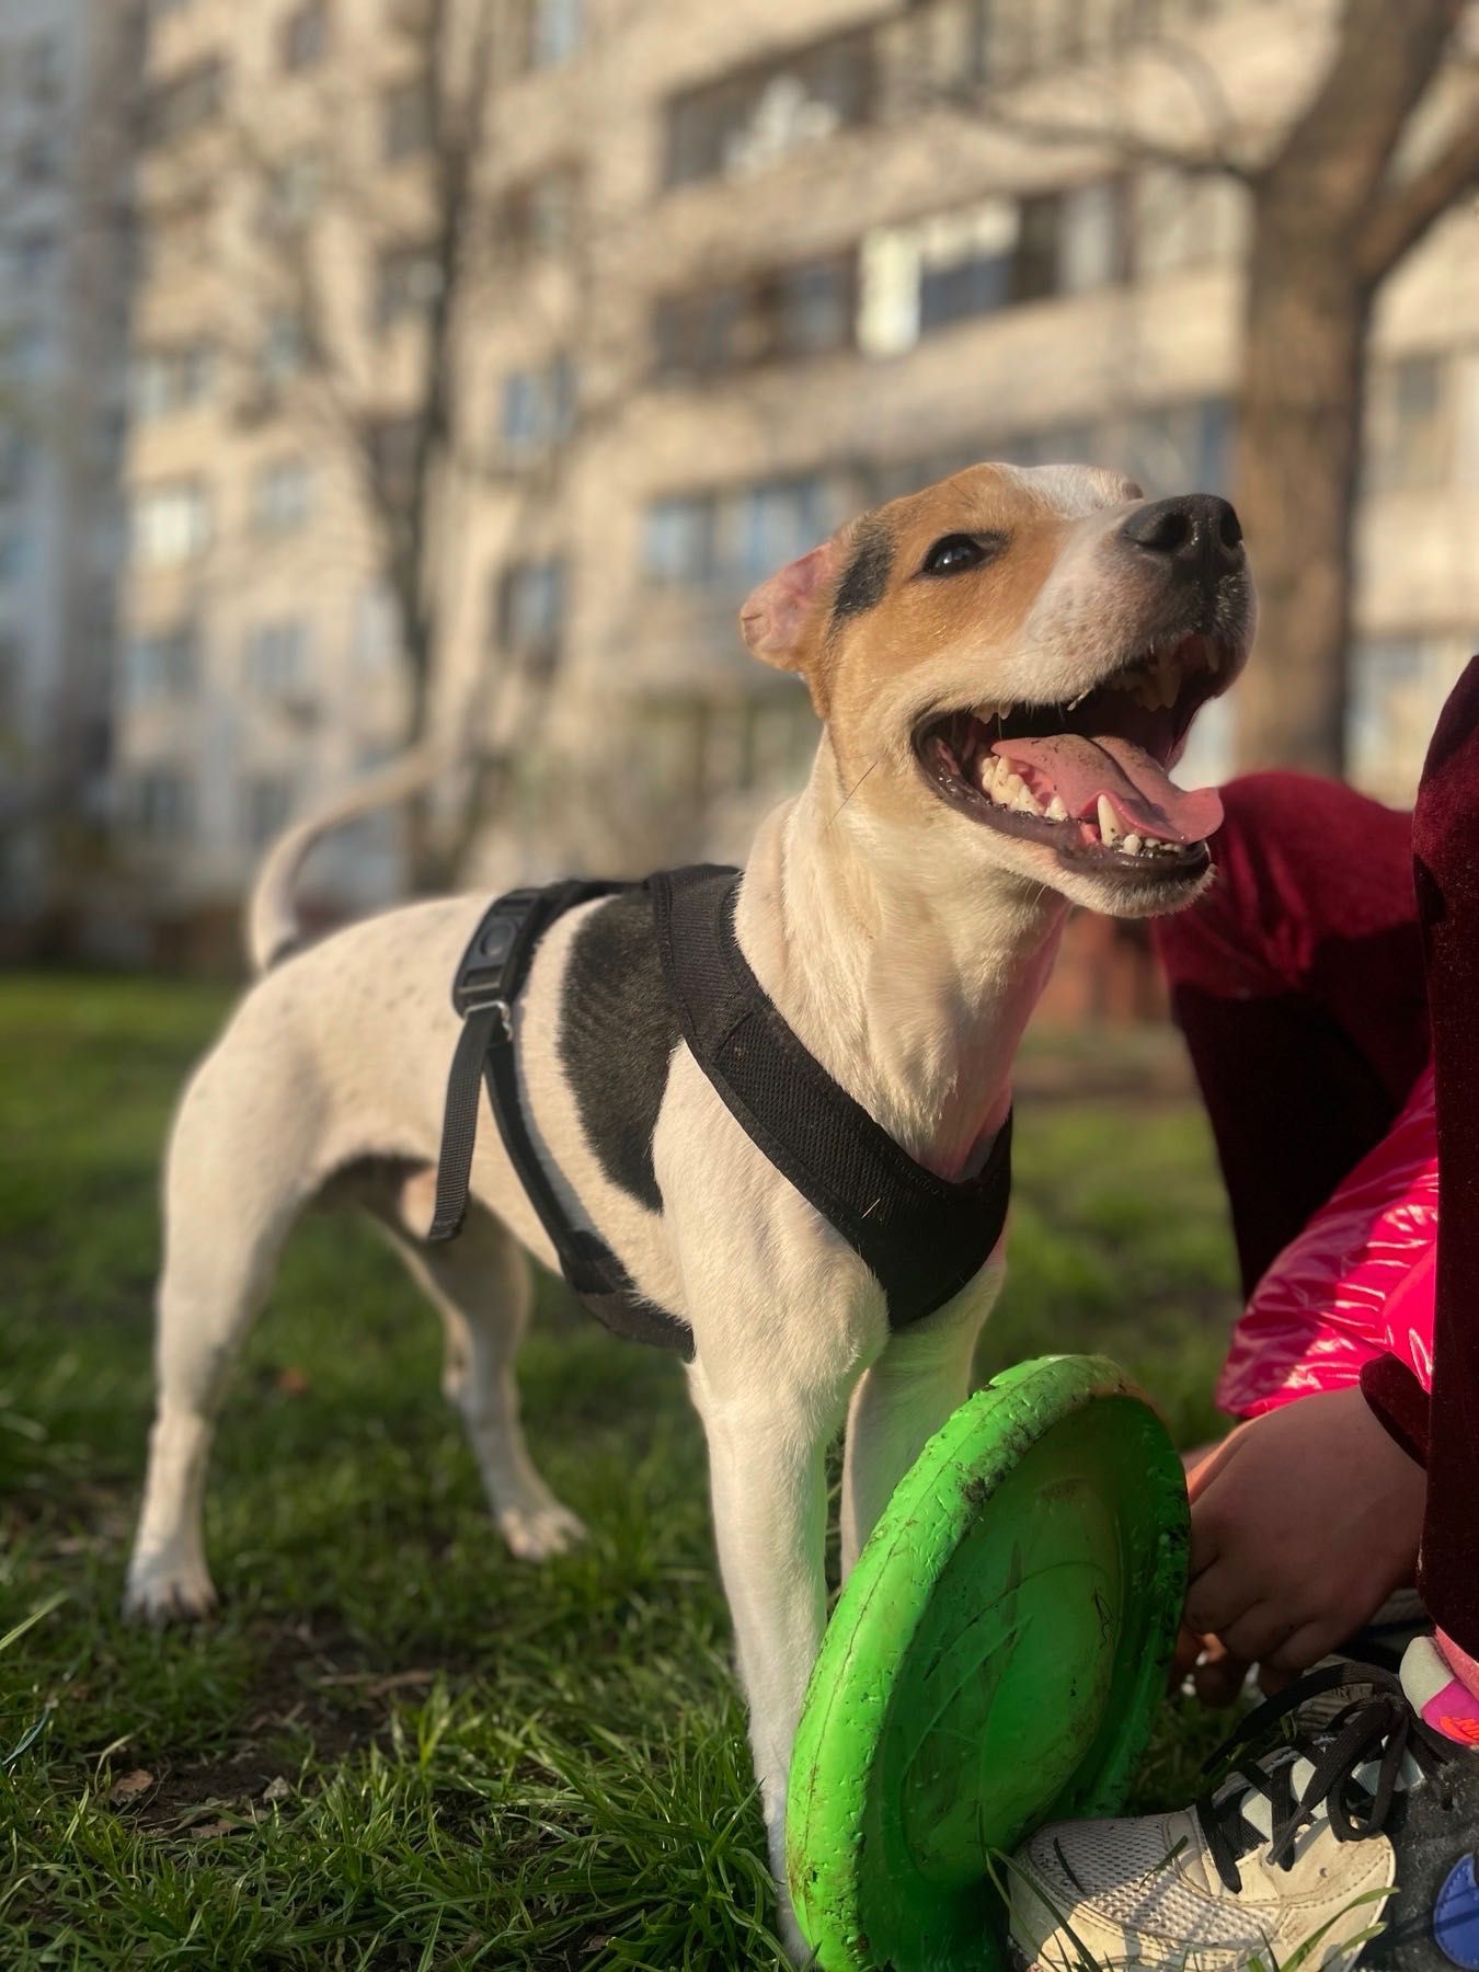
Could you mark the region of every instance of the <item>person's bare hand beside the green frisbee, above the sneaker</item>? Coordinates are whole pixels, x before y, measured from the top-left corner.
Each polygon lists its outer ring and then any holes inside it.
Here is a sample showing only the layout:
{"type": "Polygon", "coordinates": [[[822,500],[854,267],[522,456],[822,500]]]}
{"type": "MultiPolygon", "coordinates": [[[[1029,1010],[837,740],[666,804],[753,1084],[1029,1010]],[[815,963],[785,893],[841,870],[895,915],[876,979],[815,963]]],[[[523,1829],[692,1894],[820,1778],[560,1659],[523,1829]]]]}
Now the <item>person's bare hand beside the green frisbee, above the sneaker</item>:
{"type": "Polygon", "coordinates": [[[1185,1625],[1215,1639],[1197,1688],[1231,1698],[1246,1664],[1300,1672],[1412,1582],[1426,1477],[1361,1390],[1252,1418],[1187,1481],[1185,1625]]]}

